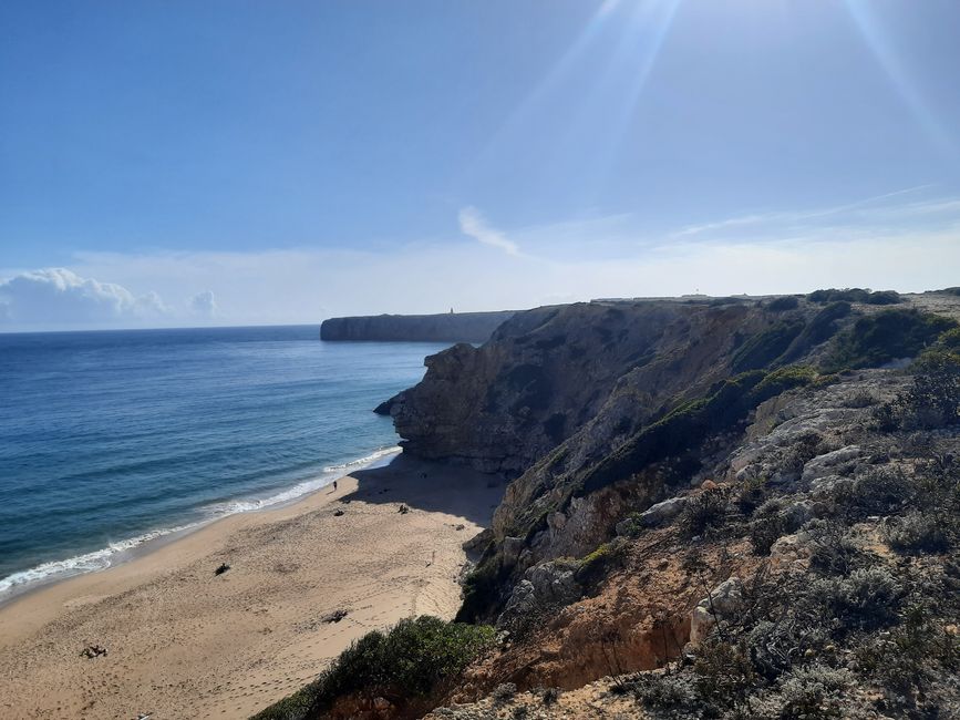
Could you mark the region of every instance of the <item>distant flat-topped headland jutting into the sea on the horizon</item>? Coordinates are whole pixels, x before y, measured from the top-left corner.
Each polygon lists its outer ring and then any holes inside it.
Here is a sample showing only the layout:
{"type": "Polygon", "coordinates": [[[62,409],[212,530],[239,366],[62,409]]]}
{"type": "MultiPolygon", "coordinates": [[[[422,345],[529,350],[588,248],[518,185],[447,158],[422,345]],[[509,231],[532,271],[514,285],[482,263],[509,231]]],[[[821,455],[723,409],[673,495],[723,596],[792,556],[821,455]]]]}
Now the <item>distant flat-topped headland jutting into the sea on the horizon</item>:
{"type": "Polygon", "coordinates": [[[320,326],[320,339],[485,342],[513,315],[502,311],[330,318],[320,326]]]}

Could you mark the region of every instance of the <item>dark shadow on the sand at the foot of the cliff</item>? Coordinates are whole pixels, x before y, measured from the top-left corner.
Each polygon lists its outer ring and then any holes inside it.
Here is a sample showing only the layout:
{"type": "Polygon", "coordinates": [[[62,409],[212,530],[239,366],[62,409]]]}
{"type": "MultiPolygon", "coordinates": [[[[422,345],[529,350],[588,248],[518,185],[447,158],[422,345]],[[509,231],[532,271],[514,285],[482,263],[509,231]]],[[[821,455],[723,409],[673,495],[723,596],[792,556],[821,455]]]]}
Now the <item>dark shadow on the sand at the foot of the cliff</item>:
{"type": "Polygon", "coordinates": [[[489,527],[506,481],[471,467],[400,454],[380,467],[350,473],[358,488],[344,501],[403,503],[411,510],[446,513],[489,527]]]}

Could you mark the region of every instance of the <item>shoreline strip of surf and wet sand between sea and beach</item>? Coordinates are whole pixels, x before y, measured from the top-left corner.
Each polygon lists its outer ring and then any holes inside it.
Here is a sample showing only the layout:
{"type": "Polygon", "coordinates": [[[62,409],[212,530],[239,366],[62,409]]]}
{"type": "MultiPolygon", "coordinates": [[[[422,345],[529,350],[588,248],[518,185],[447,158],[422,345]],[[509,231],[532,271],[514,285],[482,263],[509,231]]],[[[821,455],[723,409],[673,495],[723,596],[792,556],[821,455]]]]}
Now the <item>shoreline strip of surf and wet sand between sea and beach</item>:
{"type": "MultiPolygon", "coordinates": [[[[148,529],[134,537],[128,537],[116,543],[112,543],[106,547],[99,547],[96,549],[89,551],[86,553],[80,553],[78,555],[72,555],[63,559],[48,560],[45,563],[41,563],[40,565],[29,567],[23,570],[17,570],[7,575],[6,577],[0,578],[0,588],[2,588],[2,585],[4,583],[10,583],[9,587],[0,589],[0,608],[3,608],[19,597],[30,595],[35,590],[49,587],[51,585],[55,585],[56,583],[63,583],[74,577],[90,575],[92,573],[102,573],[112,567],[123,565],[124,563],[134,560],[142,555],[149,554],[155,549],[163,547],[167,543],[185,537],[190,533],[198,532],[213,523],[218,523],[223,520],[226,520],[227,517],[231,517],[233,515],[239,515],[244,513],[269,512],[271,510],[280,510],[282,507],[296,504],[314,493],[319,493],[324,487],[329,487],[334,482],[349,476],[351,472],[380,467],[383,464],[389,463],[393,457],[400,455],[401,452],[402,450],[399,445],[380,448],[379,450],[375,450],[372,453],[362,457],[358,457],[357,460],[348,461],[338,465],[324,466],[322,471],[320,471],[321,474],[318,477],[314,477],[312,480],[302,480],[283,490],[275,488],[275,492],[272,492],[272,494],[270,495],[267,495],[266,497],[248,498],[245,496],[238,496],[236,498],[218,503],[218,505],[223,505],[228,508],[237,507],[237,510],[225,510],[224,512],[211,514],[209,517],[203,517],[200,520],[189,522],[185,525],[175,525],[173,527],[158,527],[148,529]],[[341,472],[342,474],[336,474],[341,472]],[[292,493],[298,487],[307,485],[310,485],[310,487],[303,490],[300,493],[290,495],[289,497],[285,497],[285,495],[292,493]],[[117,549],[114,549],[114,546],[125,547],[118,547],[117,549]],[[106,564],[102,567],[86,567],[74,570],[68,565],[70,563],[81,563],[84,560],[93,562],[99,556],[102,556],[106,562],[106,564]],[[11,582],[11,578],[29,575],[42,570],[43,568],[55,566],[64,567],[63,569],[53,569],[35,579],[11,582]]],[[[199,511],[200,508],[197,510],[199,511]]]]}

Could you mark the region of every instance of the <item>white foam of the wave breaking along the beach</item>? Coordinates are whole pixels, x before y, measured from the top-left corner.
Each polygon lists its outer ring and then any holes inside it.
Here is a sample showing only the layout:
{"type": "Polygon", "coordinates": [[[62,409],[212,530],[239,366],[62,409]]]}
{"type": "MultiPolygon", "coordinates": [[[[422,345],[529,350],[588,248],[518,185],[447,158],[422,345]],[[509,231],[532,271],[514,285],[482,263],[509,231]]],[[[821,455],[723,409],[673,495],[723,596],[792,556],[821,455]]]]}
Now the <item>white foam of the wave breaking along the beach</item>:
{"type": "Polygon", "coordinates": [[[227,515],[264,510],[265,507],[270,507],[271,505],[279,505],[281,503],[292,502],[298,497],[301,497],[302,495],[307,495],[329,485],[334,480],[343,477],[345,474],[354,470],[368,467],[378,463],[384,457],[395,455],[399,452],[401,452],[401,449],[399,446],[382,448],[376,452],[373,452],[358,460],[352,460],[350,462],[339,465],[328,465],[323,467],[323,474],[319,477],[297,483],[292,487],[289,487],[268,497],[256,500],[238,500],[230,501],[228,503],[217,503],[216,505],[210,505],[209,507],[205,508],[204,514],[206,515],[206,520],[204,521],[190,523],[187,525],[180,525],[177,527],[165,527],[162,529],[151,531],[148,533],[144,533],[143,535],[137,535],[136,537],[131,537],[128,539],[111,543],[106,547],[103,547],[99,551],[93,551],[92,553],[85,553],[75,557],[69,557],[64,560],[43,563],[42,565],[38,565],[37,567],[31,567],[28,570],[13,573],[12,575],[8,575],[7,577],[0,579],[0,599],[3,599],[6,595],[12,593],[13,590],[23,589],[27,586],[38,583],[45,583],[54,579],[71,577],[73,575],[80,575],[82,573],[92,573],[94,570],[105,569],[113,564],[113,560],[116,559],[116,556],[118,554],[124,553],[125,551],[133,549],[140,545],[143,545],[144,543],[148,543],[159,537],[164,537],[165,535],[194,529],[196,527],[199,527],[200,525],[205,525],[213,520],[225,517],[227,515]]]}

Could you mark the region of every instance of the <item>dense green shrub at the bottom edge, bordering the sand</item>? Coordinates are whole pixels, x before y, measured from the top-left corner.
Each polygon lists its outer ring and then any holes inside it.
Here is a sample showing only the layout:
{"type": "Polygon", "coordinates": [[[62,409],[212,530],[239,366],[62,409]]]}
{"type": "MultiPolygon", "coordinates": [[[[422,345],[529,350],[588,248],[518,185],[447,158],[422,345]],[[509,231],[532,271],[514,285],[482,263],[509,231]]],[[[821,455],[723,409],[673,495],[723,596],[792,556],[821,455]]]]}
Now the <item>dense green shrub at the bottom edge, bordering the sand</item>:
{"type": "Polygon", "coordinates": [[[492,627],[445,623],[421,616],[404,619],[389,632],[364,635],[313,682],[270,706],[254,720],[296,720],[322,716],[352,693],[399,701],[423,698],[454,679],[494,642],[492,627]]]}

